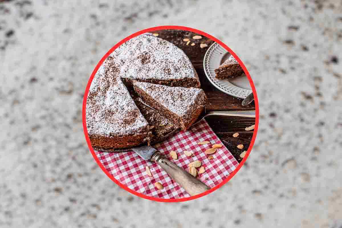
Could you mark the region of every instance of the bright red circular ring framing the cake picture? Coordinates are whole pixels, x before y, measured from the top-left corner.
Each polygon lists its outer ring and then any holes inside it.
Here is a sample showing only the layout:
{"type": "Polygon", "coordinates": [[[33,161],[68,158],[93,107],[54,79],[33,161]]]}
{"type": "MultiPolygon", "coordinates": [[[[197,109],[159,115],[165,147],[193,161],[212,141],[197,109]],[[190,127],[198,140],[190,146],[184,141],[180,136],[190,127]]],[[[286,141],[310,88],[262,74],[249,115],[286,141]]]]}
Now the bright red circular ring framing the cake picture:
{"type": "Polygon", "coordinates": [[[93,155],[95,161],[97,162],[98,166],[101,167],[101,169],[103,170],[103,172],[105,172],[105,174],[111,179],[113,180],[117,185],[119,185],[121,188],[125,189],[126,191],[129,191],[130,193],[148,199],[148,200],[153,200],[153,201],[158,201],[158,202],[184,202],[184,201],[188,201],[188,200],[194,200],[197,199],[199,197],[208,195],[209,193],[215,191],[216,189],[220,188],[221,186],[223,186],[225,183],[227,183],[241,168],[241,166],[245,163],[245,161],[247,160],[252,147],[254,145],[255,142],[255,138],[257,137],[257,132],[258,132],[258,125],[259,125],[259,102],[258,102],[258,96],[257,96],[257,91],[255,90],[255,86],[254,83],[252,81],[252,78],[247,70],[247,68],[245,67],[244,63],[242,63],[241,59],[230,49],[228,48],[227,45],[225,45],[222,41],[220,41],[219,39],[209,35],[206,32],[200,31],[198,29],[194,29],[194,28],[189,28],[189,27],[185,27],[185,26],[157,26],[157,27],[152,27],[152,28],[147,28],[147,29],[143,29],[141,31],[135,32],[132,35],[124,38],[123,40],[121,40],[119,43],[115,44],[115,46],[113,48],[111,48],[100,60],[100,62],[98,62],[98,64],[96,65],[95,69],[93,70],[90,79],[88,81],[87,87],[86,87],[86,91],[84,93],[84,97],[83,97],[83,108],[82,108],[82,121],[83,121],[83,131],[84,131],[84,135],[86,136],[86,140],[88,143],[88,147],[90,149],[91,154],[93,155]],[[240,164],[238,165],[238,167],[236,167],[236,169],[231,173],[231,175],[229,175],[226,179],[224,179],[220,184],[216,185],[215,187],[209,189],[206,192],[203,192],[201,194],[198,194],[196,196],[192,196],[192,197],[186,197],[186,198],[180,198],[180,199],[163,199],[163,198],[155,198],[155,197],[150,197],[150,196],[146,196],[142,193],[136,192],[130,188],[128,188],[127,186],[121,184],[117,179],[114,178],[113,175],[111,175],[103,166],[103,164],[100,162],[100,160],[97,158],[97,156],[95,155],[94,149],[91,146],[90,143],[90,138],[88,135],[88,131],[87,131],[87,124],[86,124],[86,104],[87,104],[87,97],[88,97],[88,92],[89,92],[89,88],[90,88],[90,84],[93,81],[93,78],[95,76],[95,73],[97,72],[98,68],[101,66],[101,64],[105,61],[105,59],[110,55],[110,53],[112,53],[115,49],[118,48],[118,46],[120,46],[121,44],[123,44],[124,42],[138,36],[141,35],[142,33],[145,32],[151,32],[151,31],[155,31],[155,30],[161,30],[161,29],[181,29],[181,30],[187,30],[187,31],[191,31],[191,32],[195,32],[198,34],[201,34],[205,37],[210,38],[211,40],[215,41],[216,43],[219,43],[221,46],[223,46],[223,48],[225,48],[229,53],[231,53],[234,58],[239,62],[240,66],[242,67],[242,69],[245,71],[245,74],[249,80],[249,83],[251,85],[252,88],[252,92],[254,94],[254,102],[255,102],[255,128],[254,128],[254,132],[253,132],[253,137],[251,140],[251,143],[248,147],[247,153],[244,157],[244,159],[242,159],[242,161],[240,162],[240,164]]]}

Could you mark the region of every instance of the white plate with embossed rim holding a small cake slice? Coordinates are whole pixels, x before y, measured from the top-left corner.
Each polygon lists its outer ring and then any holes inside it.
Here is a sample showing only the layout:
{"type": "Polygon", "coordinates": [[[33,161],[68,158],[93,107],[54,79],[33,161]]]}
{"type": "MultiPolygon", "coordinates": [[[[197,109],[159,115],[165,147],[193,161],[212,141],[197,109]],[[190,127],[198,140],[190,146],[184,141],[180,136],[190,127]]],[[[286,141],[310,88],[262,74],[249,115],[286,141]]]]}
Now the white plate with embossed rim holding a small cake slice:
{"type": "Polygon", "coordinates": [[[203,67],[208,80],[222,92],[234,97],[246,98],[252,93],[251,86],[245,74],[233,79],[219,80],[215,78],[215,69],[218,68],[231,54],[220,44],[213,43],[207,50],[203,67]]]}

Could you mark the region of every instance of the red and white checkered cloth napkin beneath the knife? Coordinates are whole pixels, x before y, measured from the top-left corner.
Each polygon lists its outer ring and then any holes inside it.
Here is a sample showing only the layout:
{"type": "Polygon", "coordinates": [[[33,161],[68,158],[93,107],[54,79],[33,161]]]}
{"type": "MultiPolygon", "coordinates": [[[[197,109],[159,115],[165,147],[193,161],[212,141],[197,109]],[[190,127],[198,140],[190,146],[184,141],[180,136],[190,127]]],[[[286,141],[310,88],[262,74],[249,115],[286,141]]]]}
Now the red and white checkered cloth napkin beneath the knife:
{"type": "MultiPolygon", "coordinates": [[[[190,162],[201,161],[206,171],[199,174],[197,178],[212,188],[221,183],[238,166],[238,162],[224,145],[212,155],[214,159],[208,159],[205,151],[211,148],[212,144],[223,145],[207,121],[202,120],[189,130],[178,132],[172,138],[158,143],[154,147],[186,171],[189,171],[188,164],[190,162]],[[198,145],[201,141],[209,141],[210,144],[198,145]],[[171,150],[177,152],[177,160],[171,158],[169,154],[171,150]],[[192,151],[195,156],[187,157],[183,153],[184,150],[192,151]]],[[[143,160],[133,151],[113,153],[95,151],[95,153],[115,179],[134,191],[164,199],[190,197],[158,164],[143,160]],[[147,165],[152,172],[152,177],[145,172],[147,165]],[[157,189],[154,185],[156,182],[161,183],[164,188],[157,189]]]]}

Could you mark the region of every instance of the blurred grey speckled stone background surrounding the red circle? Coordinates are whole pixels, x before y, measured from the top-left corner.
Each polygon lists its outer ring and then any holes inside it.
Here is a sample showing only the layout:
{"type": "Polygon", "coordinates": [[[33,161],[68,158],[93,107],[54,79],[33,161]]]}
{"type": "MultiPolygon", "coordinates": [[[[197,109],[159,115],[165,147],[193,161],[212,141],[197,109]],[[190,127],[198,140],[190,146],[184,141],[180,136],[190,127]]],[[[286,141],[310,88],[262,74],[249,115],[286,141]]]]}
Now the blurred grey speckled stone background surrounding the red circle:
{"type": "Polygon", "coordinates": [[[0,1],[0,227],[342,227],[341,1],[0,1]],[[100,58],[131,33],[184,25],[246,64],[260,130],[246,165],[198,200],[116,186],[82,131],[100,58]]]}

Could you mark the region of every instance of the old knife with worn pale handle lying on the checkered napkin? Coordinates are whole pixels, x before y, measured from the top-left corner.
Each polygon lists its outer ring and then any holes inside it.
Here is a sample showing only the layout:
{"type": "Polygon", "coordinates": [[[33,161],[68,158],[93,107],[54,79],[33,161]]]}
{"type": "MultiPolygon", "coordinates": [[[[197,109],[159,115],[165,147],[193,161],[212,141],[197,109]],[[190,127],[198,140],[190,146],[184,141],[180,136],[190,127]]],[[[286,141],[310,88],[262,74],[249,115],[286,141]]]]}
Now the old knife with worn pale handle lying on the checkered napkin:
{"type": "Polygon", "coordinates": [[[153,147],[141,146],[134,147],[131,150],[137,153],[142,159],[159,164],[160,167],[162,167],[162,169],[181,187],[183,187],[190,196],[198,195],[210,189],[199,179],[169,161],[160,153],[159,150],[156,150],[153,147]]]}

